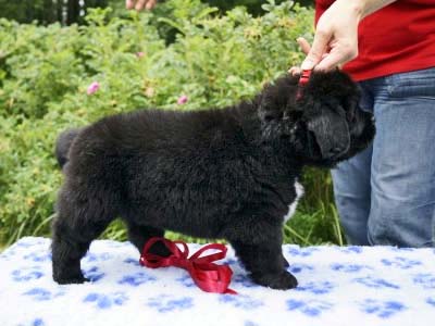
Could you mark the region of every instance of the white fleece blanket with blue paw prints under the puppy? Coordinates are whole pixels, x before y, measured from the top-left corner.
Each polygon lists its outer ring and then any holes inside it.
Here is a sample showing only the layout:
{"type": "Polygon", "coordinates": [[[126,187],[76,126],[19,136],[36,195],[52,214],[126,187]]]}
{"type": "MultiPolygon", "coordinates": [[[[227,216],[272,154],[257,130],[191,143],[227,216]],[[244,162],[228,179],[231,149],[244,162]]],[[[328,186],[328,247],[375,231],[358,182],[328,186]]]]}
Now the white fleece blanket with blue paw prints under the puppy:
{"type": "Polygon", "coordinates": [[[434,249],[283,250],[297,289],[252,284],[229,248],[232,296],[202,292],[181,268],[142,267],[129,242],[108,240],[82,261],[91,283],[59,286],[50,240],[23,238],[0,254],[0,325],[435,325],[434,249]]]}

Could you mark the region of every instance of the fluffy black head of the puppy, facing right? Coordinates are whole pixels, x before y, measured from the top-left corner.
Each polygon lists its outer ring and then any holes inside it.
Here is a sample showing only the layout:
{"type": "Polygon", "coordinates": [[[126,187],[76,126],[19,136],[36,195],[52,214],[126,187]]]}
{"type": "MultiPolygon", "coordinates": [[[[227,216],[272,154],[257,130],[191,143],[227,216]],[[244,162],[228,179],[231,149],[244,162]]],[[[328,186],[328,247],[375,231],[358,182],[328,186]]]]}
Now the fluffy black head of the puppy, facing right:
{"type": "Polygon", "coordinates": [[[301,89],[284,76],[260,95],[264,139],[288,141],[307,164],[332,167],[365,149],[375,133],[371,113],[359,108],[360,92],[339,71],[314,72],[301,89]]]}

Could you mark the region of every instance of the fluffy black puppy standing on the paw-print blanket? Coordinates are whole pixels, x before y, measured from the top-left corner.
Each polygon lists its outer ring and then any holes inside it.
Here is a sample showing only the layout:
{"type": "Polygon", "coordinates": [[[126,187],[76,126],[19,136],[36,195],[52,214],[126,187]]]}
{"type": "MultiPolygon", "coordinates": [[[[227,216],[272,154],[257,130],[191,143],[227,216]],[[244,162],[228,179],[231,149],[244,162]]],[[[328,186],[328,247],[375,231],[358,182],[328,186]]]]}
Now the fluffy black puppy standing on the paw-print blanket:
{"type": "MultiPolygon", "coordinates": [[[[165,229],[224,238],[259,285],[297,286],[282,254],[284,216],[304,165],[333,167],[366,148],[372,115],[344,73],[286,75],[252,100],[208,111],[140,110],[63,133],[53,279],[86,280],[80,259],[116,217],[141,251],[165,229]]],[[[297,193],[298,192],[298,193],[297,193]]],[[[153,253],[167,255],[158,242],[153,253]]]]}

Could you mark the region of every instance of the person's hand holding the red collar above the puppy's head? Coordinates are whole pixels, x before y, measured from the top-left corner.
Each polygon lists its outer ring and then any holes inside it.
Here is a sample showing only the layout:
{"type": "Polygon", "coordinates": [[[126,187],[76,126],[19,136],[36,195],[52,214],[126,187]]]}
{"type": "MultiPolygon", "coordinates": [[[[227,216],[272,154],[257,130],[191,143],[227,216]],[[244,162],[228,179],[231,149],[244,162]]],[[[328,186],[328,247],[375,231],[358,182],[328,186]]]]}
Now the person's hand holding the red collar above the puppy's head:
{"type": "Polygon", "coordinates": [[[304,39],[298,39],[307,53],[301,68],[332,71],[357,58],[358,24],[362,16],[358,1],[335,1],[320,17],[312,47],[304,39]]]}

